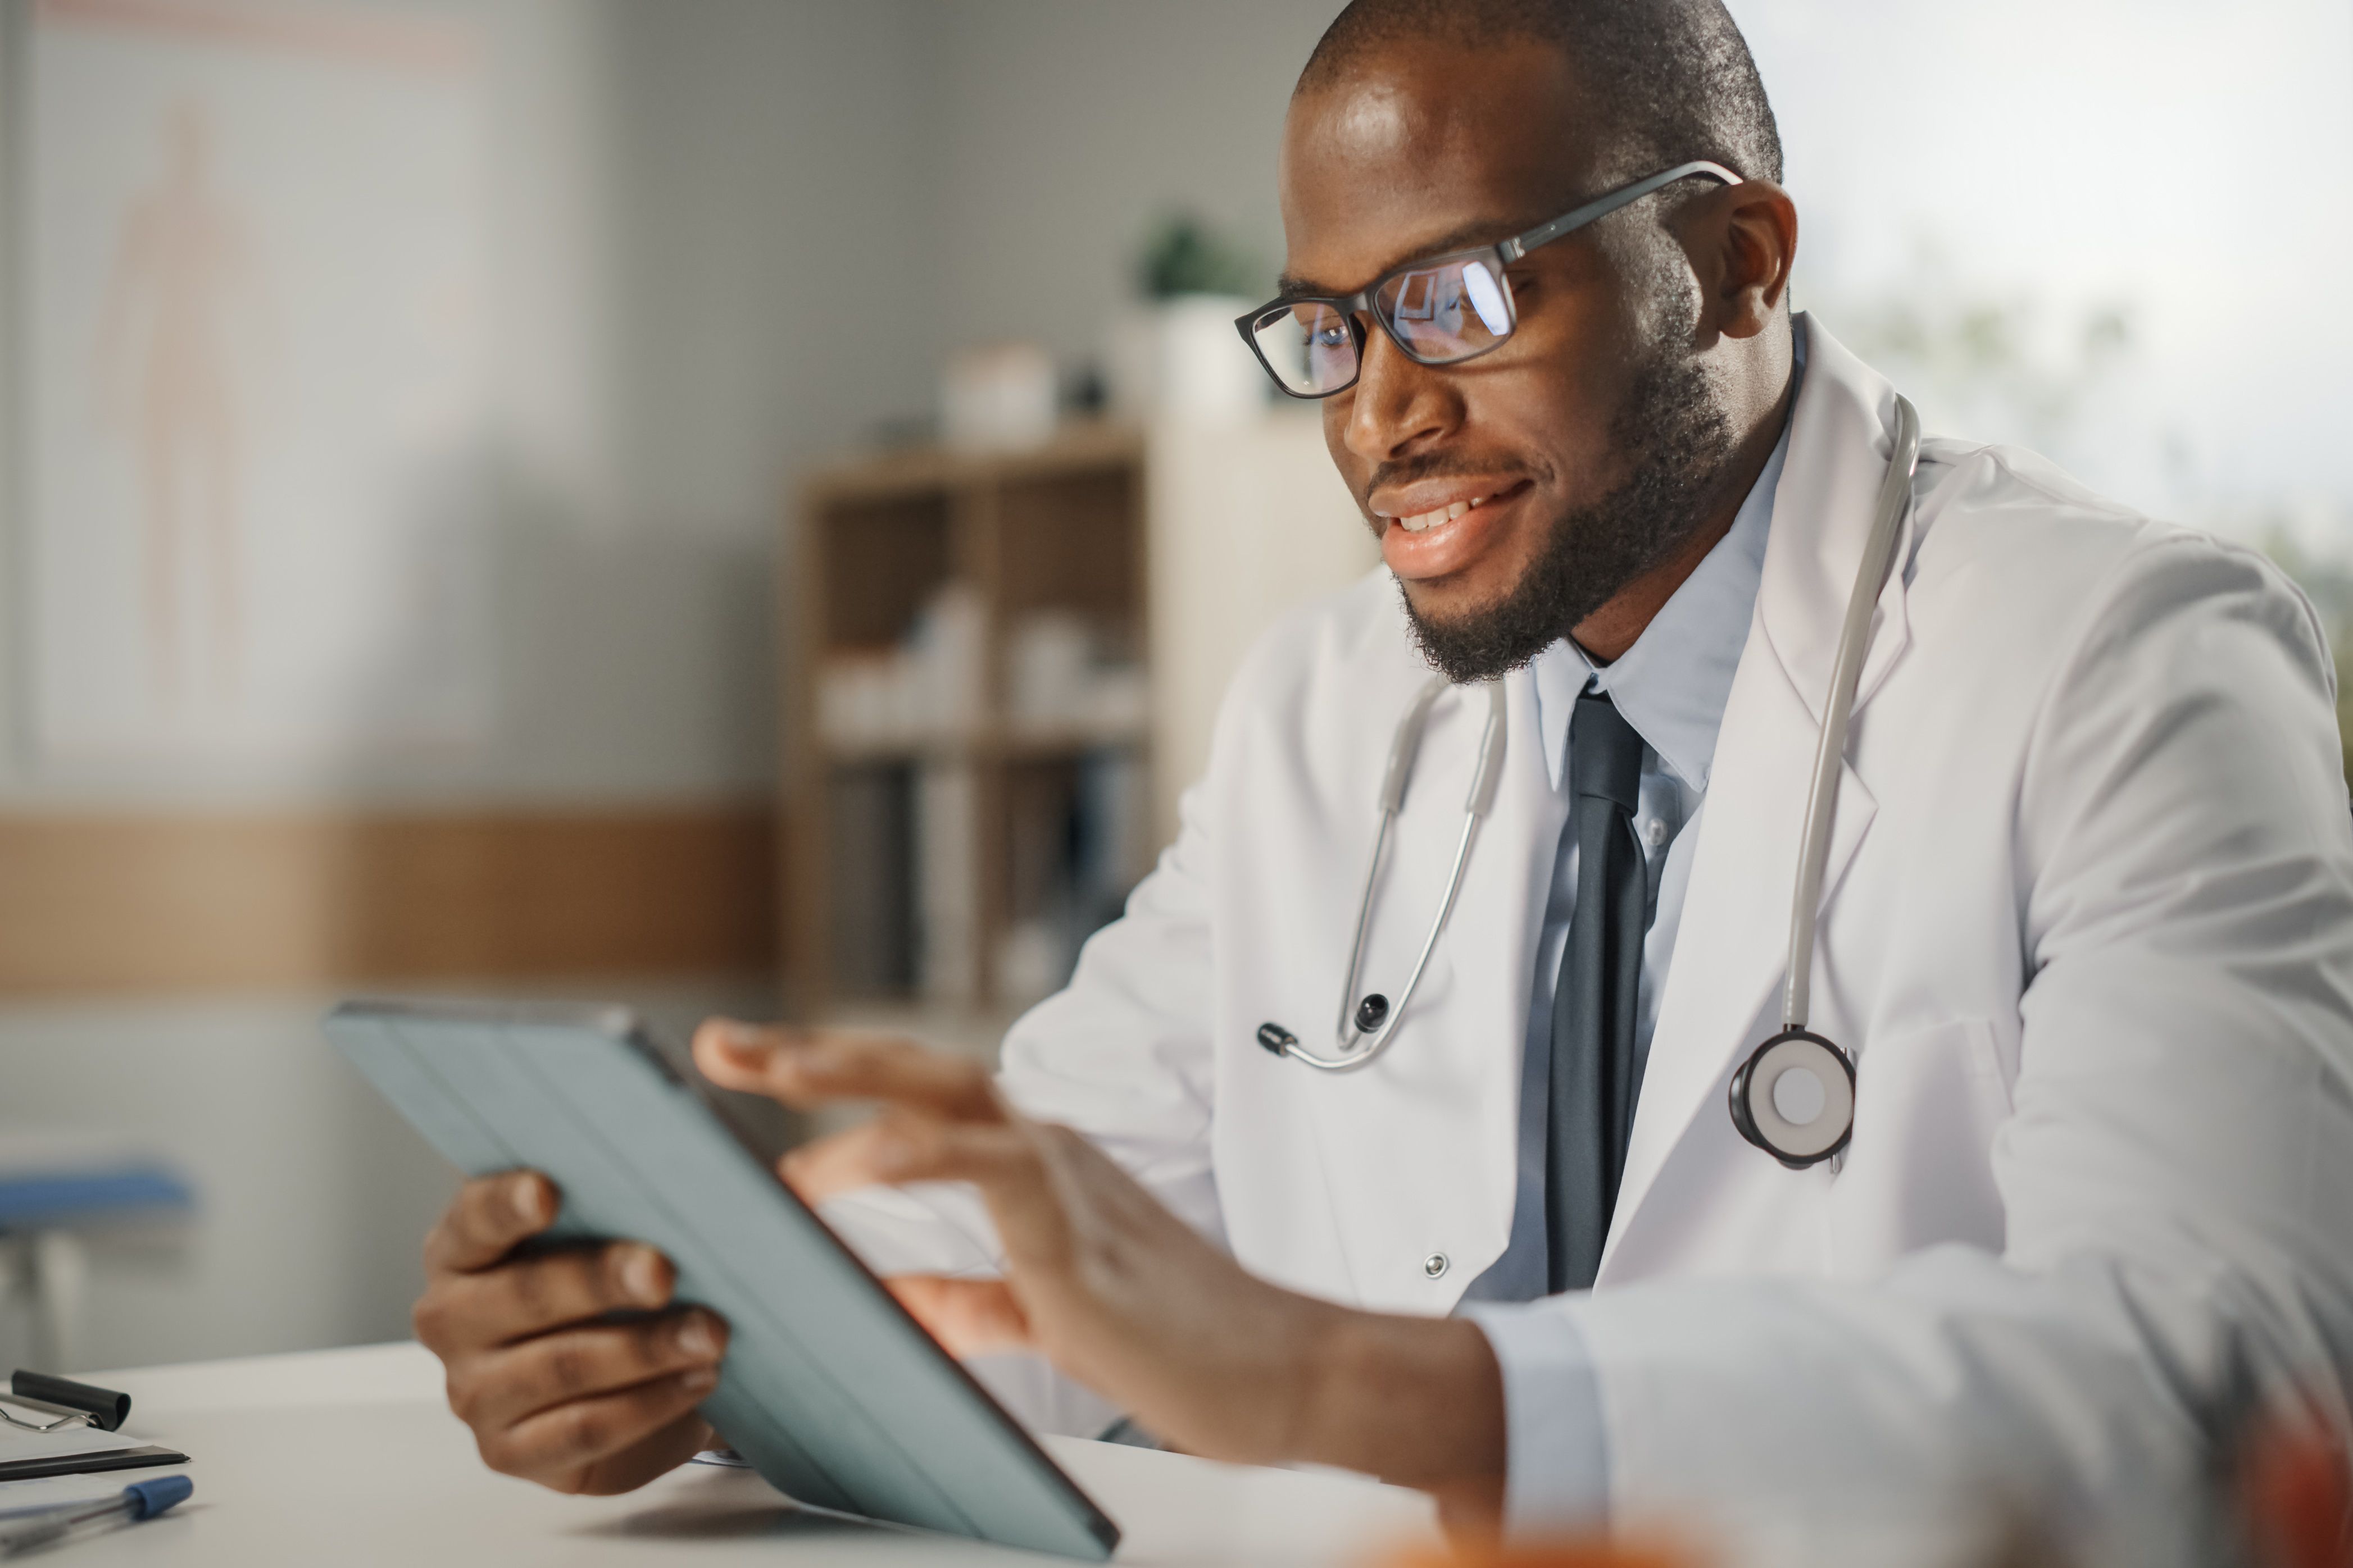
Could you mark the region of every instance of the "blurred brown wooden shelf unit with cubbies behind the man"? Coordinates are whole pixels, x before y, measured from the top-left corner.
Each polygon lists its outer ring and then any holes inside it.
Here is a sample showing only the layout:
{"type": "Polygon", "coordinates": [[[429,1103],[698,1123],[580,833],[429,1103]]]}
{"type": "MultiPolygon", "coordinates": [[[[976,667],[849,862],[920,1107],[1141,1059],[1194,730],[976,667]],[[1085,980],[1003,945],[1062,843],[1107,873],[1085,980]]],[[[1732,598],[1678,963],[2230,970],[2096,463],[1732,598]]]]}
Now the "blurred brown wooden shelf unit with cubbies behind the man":
{"type": "MultiPolygon", "coordinates": [[[[859,456],[805,487],[793,543],[781,583],[784,618],[798,625],[784,682],[793,823],[784,924],[800,1009],[816,1016],[842,999],[1000,1009],[1000,947],[1016,926],[1040,919],[1040,898],[1052,898],[1054,867],[1045,858],[1064,853],[1049,832],[1056,802],[1068,806],[1085,792],[1082,773],[1101,752],[1132,759],[1146,776],[1141,726],[1040,729],[1007,717],[1007,649],[1033,616],[1078,616],[1136,656],[1151,646],[1144,440],[1125,425],[1080,423],[1035,451],[859,456]],[[969,585],[984,609],[972,726],[871,743],[821,736],[816,684],[828,661],[899,646],[948,583],[969,585]],[[894,773],[896,783],[887,778],[894,773]],[[929,891],[911,891],[901,884],[925,875],[915,851],[868,839],[899,832],[892,823],[918,811],[925,783],[941,776],[969,792],[969,865],[960,867],[969,910],[960,922],[929,924],[955,926],[955,940],[969,947],[965,994],[925,990],[920,976],[904,973],[896,950],[885,961],[842,950],[845,940],[866,943],[889,922],[904,924],[911,910],[936,912],[951,879],[932,877],[929,891]],[[861,788],[868,795],[859,799],[842,795],[861,788]],[[880,990],[875,976],[887,978],[880,990]]],[[[1141,875],[1148,811],[1132,816],[1134,827],[1122,832],[1134,842],[1120,856],[1141,875]]],[[[934,983],[939,973],[932,964],[934,983]]]]}

